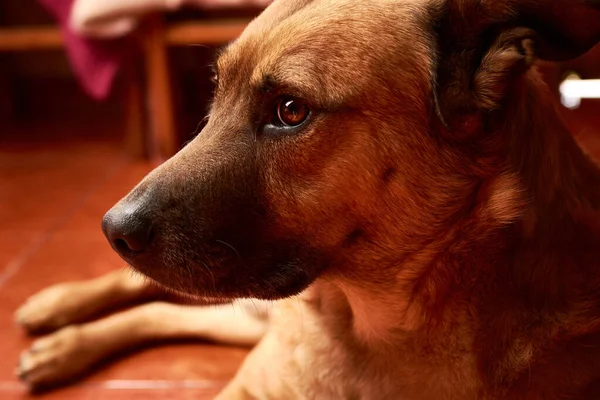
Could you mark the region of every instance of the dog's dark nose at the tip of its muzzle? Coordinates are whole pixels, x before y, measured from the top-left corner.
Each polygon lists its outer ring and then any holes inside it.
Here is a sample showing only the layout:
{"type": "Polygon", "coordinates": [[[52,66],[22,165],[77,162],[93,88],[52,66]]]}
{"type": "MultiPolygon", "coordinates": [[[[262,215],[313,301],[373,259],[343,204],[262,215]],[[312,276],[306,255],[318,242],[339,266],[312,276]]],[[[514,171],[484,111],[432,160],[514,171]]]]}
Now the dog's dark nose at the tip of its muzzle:
{"type": "Polygon", "coordinates": [[[102,231],[117,253],[132,257],[150,244],[152,222],[138,207],[117,205],[102,219],[102,231]]]}

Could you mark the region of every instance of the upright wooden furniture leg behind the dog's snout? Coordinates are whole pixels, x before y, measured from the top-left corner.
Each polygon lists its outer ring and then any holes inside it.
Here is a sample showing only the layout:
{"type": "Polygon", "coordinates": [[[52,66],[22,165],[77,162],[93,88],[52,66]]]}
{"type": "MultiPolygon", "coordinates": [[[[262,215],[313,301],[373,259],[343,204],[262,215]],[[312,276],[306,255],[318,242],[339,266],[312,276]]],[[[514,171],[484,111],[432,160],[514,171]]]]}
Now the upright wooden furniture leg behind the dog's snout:
{"type": "Polygon", "coordinates": [[[154,161],[163,161],[175,154],[178,140],[165,30],[159,15],[148,19],[143,41],[150,124],[150,158],[154,161]]]}

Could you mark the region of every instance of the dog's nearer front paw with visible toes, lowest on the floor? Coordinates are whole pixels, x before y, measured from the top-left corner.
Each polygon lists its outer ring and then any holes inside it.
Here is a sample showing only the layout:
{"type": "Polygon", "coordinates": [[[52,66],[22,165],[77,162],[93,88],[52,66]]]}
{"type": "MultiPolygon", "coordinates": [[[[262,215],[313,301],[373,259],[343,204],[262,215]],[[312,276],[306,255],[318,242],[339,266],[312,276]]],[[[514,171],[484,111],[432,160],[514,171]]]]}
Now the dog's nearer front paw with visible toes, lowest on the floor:
{"type": "Polygon", "coordinates": [[[36,340],[21,354],[17,375],[31,389],[65,383],[87,372],[102,358],[100,346],[86,340],[79,326],[68,326],[36,340]]]}

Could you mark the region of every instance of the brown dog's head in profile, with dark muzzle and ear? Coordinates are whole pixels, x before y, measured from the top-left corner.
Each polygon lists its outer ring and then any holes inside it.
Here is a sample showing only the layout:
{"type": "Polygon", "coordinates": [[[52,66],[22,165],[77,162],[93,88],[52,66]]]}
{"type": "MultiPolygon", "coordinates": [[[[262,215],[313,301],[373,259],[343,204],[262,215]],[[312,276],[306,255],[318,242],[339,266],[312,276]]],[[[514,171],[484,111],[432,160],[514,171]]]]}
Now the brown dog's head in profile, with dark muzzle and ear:
{"type": "Polygon", "coordinates": [[[218,57],[206,128],[104,231],[199,296],[388,279],[499,176],[478,143],[532,59],[585,52],[599,21],[596,0],[276,1],[218,57]]]}

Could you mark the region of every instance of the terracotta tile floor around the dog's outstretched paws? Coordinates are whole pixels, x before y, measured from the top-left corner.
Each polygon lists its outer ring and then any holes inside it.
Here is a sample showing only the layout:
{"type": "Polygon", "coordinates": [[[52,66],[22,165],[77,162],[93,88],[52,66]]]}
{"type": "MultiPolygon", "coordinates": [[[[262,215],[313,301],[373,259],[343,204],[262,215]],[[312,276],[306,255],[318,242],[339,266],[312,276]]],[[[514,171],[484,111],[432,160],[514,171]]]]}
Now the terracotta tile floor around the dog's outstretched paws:
{"type": "MultiPolygon", "coordinates": [[[[36,291],[122,267],[100,230],[104,212],[149,164],[122,155],[115,140],[73,132],[18,135],[0,128],[0,399],[33,397],[15,379],[31,342],[15,309],[36,291]]],[[[40,129],[32,127],[31,129],[40,129]]],[[[89,127],[88,127],[89,129],[89,127]]],[[[108,128],[107,128],[108,129],[108,128]]],[[[211,399],[246,350],[202,343],[144,349],[107,363],[80,383],[42,399],[211,399]]]]}

